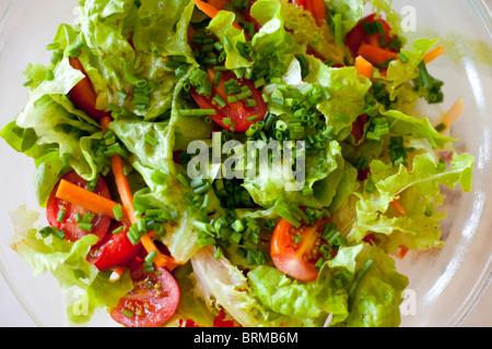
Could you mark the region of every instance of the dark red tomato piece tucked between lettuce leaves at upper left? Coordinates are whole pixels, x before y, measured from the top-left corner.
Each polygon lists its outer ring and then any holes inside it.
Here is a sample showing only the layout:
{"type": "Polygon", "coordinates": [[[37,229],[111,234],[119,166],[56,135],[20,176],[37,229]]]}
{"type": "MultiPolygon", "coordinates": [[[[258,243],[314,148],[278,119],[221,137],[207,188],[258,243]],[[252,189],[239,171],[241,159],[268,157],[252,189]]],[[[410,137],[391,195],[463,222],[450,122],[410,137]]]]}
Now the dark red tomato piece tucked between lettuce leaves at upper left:
{"type": "Polygon", "coordinates": [[[70,65],[72,65],[73,69],[80,70],[85,75],[85,77],[82,79],[68,93],[70,100],[75,105],[75,107],[85,111],[89,117],[97,121],[103,120],[103,118],[107,117],[108,113],[103,110],[96,109],[95,106],[97,95],[94,91],[94,87],[92,86],[91,81],[89,80],[87,74],[85,73],[84,68],[82,67],[82,63],[78,58],[74,57],[70,57],[69,61],[70,65]]]}

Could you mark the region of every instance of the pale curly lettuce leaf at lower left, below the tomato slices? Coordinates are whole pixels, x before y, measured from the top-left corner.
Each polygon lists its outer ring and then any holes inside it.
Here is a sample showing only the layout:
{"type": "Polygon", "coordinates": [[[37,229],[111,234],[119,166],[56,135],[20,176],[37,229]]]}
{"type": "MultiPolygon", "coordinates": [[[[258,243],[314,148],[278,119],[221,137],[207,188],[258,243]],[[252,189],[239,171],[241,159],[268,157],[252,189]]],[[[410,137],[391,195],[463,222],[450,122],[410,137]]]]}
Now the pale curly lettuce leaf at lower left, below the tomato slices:
{"type": "Polygon", "coordinates": [[[71,291],[67,313],[74,324],[85,324],[96,309],[116,306],[118,300],[133,289],[129,273],[116,282],[109,282],[86,255],[98,238],[87,234],[75,242],[54,236],[43,238],[35,224],[36,212],[21,206],[11,213],[15,231],[12,248],[33,267],[34,275],[50,273],[60,287],[71,291]],[[75,288],[77,291],[73,291],[75,288]]]}

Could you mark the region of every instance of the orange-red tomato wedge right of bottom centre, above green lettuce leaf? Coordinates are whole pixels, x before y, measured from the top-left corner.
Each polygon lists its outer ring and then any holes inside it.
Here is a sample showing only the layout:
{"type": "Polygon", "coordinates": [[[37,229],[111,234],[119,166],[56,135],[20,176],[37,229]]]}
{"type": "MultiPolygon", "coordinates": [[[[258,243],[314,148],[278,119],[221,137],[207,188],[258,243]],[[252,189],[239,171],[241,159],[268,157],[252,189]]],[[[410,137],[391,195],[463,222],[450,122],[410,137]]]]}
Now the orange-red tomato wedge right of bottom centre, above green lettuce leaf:
{"type": "MultiPolygon", "coordinates": [[[[325,219],[319,219],[313,226],[304,222],[296,229],[286,219],[282,219],[273,230],[270,254],[274,266],[285,275],[301,281],[316,279],[318,270],[315,267],[319,258],[318,248],[325,219]],[[298,243],[294,237],[300,236],[298,243]]],[[[335,252],[335,250],[332,250],[335,252]]]]}

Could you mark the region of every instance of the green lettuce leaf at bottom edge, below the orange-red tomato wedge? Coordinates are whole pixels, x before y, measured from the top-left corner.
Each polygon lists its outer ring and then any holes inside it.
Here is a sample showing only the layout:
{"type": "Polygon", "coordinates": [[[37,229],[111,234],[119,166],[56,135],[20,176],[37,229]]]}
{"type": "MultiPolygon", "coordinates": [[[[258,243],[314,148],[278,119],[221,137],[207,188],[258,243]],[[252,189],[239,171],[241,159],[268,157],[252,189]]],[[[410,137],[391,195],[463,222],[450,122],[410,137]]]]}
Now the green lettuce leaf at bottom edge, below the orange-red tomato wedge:
{"type": "Polygon", "coordinates": [[[393,258],[367,243],[341,248],[313,281],[301,282],[266,265],[247,277],[265,308],[305,324],[311,318],[313,326],[398,326],[408,285],[393,258]],[[359,277],[367,261],[372,266],[359,277]]]}

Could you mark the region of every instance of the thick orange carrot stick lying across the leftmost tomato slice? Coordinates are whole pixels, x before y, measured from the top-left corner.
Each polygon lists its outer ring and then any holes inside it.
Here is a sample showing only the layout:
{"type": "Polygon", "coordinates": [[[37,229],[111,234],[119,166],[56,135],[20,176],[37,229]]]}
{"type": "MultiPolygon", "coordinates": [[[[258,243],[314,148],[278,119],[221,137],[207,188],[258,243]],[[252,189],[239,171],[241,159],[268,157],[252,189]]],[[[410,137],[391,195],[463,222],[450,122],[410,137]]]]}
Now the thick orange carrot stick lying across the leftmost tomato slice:
{"type": "MultiPolygon", "coordinates": [[[[71,204],[84,207],[95,214],[105,215],[112,218],[116,218],[114,208],[119,205],[113,200],[93,193],[77,184],[70,183],[65,179],[60,180],[56,196],[71,204]]],[[[128,216],[124,216],[122,220],[128,224],[128,216]]]]}

